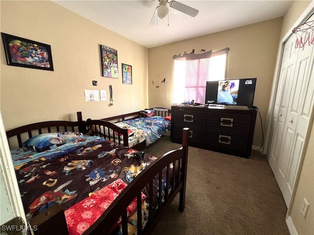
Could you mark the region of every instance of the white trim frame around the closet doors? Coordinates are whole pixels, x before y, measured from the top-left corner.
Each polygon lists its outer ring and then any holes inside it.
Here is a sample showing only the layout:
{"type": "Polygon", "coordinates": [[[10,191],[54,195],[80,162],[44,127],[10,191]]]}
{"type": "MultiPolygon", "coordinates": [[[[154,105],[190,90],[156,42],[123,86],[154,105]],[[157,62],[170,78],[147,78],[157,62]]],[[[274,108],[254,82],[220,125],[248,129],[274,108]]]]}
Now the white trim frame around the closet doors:
{"type": "MultiPolygon", "coordinates": [[[[274,73],[274,79],[273,79],[273,83],[272,83],[271,96],[270,96],[268,112],[267,112],[267,118],[266,118],[264,146],[262,147],[262,151],[261,151],[262,154],[264,154],[264,155],[267,154],[268,145],[269,145],[271,132],[272,132],[273,113],[274,113],[274,107],[275,107],[275,101],[276,101],[276,93],[277,93],[278,83],[279,83],[279,78],[280,78],[280,71],[281,71],[281,64],[282,64],[282,60],[283,60],[285,43],[288,41],[290,36],[293,37],[292,29],[295,28],[296,26],[304,23],[312,15],[313,12],[314,12],[314,0],[312,0],[310,2],[309,6],[304,10],[304,12],[298,18],[298,20],[292,25],[292,27],[289,29],[289,31],[286,33],[286,35],[281,39],[281,41],[279,43],[277,59],[276,59],[276,66],[275,66],[275,73],[274,73]]],[[[312,47],[314,47],[314,45],[312,45],[312,47]]],[[[311,71],[309,71],[309,72],[311,73],[311,71]]],[[[300,156],[300,163],[299,163],[298,169],[296,170],[295,182],[297,182],[299,180],[299,178],[300,178],[301,169],[302,169],[302,165],[303,165],[304,157],[305,157],[305,152],[306,152],[306,149],[307,149],[307,146],[308,146],[308,143],[309,143],[310,131],[311,131],[312,125],[313,125],[313,119],[314,119],[314,109],[312,109],[312,114],[311,114],[311,118],[310,118],[311,121],[310,121],[310,124],[308,126],[306,140],[305,140],[305,145],[303,147],[303,152],[302,152],[302,154],[300,156]]],[[[296,194],[296,188],[297,188],[297,184],[294,184],[294,188],[293,188],[293,191],[292,191],[290,202],[294,201],[295,194],[296,194]]],[[[288,207],[287,216],[286,216],[287,222],[288,222],[291,210],[292,210],[290,205],[288,207]]]]}

